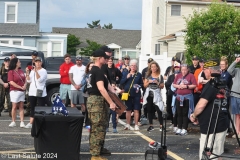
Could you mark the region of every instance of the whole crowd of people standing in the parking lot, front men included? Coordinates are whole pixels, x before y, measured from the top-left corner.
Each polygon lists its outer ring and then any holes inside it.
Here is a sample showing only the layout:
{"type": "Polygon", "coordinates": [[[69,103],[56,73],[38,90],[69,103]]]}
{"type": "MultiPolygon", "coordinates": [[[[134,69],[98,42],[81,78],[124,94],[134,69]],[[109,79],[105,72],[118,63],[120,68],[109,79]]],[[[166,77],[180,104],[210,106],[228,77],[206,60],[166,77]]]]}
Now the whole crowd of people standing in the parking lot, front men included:
{"type": "MultiPolygon", "coordinates": [[[[230,65],[226,57],[221,57],[220,63],[214,60],[214,65],[209,65],[204,59],[192,57],[192,65],[181,64],[176,57],[172,58],[172,64],[163,74],[161,66],[152,58],[148,59],[148,66],[140,73],[138,61],[125,55],[114,64],[112,50],[102,46],[92,54],[91,61],[84,66],[82,57],[76,56],[75,63],[71,55],[64,56],[64,63],[59,68],[60,73],[60,98],[65,103],[67,97],[71,100],[71,107],[81,106],[81,112],[85,115],[85,127],[90,132],[90,153],[92,159],[105,159],[100,155],[111,155],[104,148],[106,132],[110,131],[109,119],[112,117],[112,132],[118,133],[117,106],[112,101],[108,92],[116,93],[121,98],[122,93],[127,94],[124,100],[127,106],[126,126],[124,130],[130,130],[131,121],[134,122],[134,130],[140,130],[141,114],[148,121],[147,131],[153,131],[153,119],[159,121],[159,131],[163,131],[162,114],[165,106],[162,98],[162,89],[166,88],[166,111],[170,119],[172,131],[176,135],[188,134],[190,120],[194,125],[200,126],[200,152],[203,152],[206,134],[213,134],[213,128],[208,131],[208,123],[211,117],[212,104],[219,90],[209,83],[212,73],[216,73],[216,66],[220,67],[219,75],[226,81],[226,86],[234,92],[227,98],[231,114],[233,115],[236,131],[240,137],[240,93],[239,79],[240,69],[235,68],[240,58],[230,65]],[[214,68],[215,67],[215,68],[214,68]],[[234,79],[233,79],[234,78],[234,79]],[[165,80],[165,83],[164,83],[165,80]],[[141,103],[142,99],[142,103],[141,103]],[[143,111],[143,113],[141,112],[143,111]]],[[[212,63],[213,64],[213,63],[212,63]]],[[[4,109],[9,111],[12,122],[9,127],[16,126],[16,114],[19,109],[20,127],[32,128],[35,106],[45,106],[47,71],[42,66],[42,59],[37,52],[32,53],[32,61],[28,65],[21,66],[20,60],[12,55],[4,59],[0,72],[1,97],[0,115],[4,109]],[[26,71],[24,74],[23,68],[26,71]],[[27,94],[25,94],[27,91],[27,94]],[[27,95],[27,97],[25,97],[27,95]],[[30,122],[24,124],[24,101],[29,102],[30,122]]],[[[222,93],[229,91],[222,91],[222,93]]],[[[213,121],[216,121],[217,112],[213,112],[213,121]]],[[[225,112],[220,112],[217,123],[214,152],[223,153],[223,144],[230,130],[230,122],[225,112]],[[222,147],[219,147],[222,146],[222,147]]],[[[236,135],[233,136],[236,138],[236,135]]]]}

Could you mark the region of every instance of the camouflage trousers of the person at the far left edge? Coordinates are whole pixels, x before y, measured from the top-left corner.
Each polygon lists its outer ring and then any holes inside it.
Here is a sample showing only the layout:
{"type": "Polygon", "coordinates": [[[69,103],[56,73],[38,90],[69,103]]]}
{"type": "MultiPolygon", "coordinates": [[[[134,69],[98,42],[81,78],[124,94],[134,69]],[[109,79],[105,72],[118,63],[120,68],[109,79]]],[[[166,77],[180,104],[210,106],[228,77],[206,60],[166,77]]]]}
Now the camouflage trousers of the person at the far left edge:
{"type": "Polygon", "coordinates": [[[2,112],[5,104],[5,99],[7,100],[7,108],[8,111],[11,112],[12,110],[12,103],[10,100],[10,91],[9,88],[5,89],[3,85],[0,85],[0,113],[2,112]]]}

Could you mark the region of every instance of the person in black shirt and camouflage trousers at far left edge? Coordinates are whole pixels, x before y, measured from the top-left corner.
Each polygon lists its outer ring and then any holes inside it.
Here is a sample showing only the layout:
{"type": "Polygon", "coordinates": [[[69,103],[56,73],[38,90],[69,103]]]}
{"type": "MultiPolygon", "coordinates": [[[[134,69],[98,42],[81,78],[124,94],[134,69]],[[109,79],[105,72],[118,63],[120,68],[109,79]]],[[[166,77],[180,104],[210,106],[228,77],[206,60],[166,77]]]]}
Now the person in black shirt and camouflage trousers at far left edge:
{"type": "Polygon", "coordinates": [[[10,101],[10,92],[9,92],[9,84],[8,84],[8,68],[9,68],[9,62],[10,58],[6,57],[4,59],[4,65],[1,67],[1,72],[0,72],[0,116],[1,112],[3,110],[3,106],[5,104],[5,99],[7,100],[7,108],[9,112],[9,116],[11,116],[11,111],[12,111],[12,103],[10,101]]]}

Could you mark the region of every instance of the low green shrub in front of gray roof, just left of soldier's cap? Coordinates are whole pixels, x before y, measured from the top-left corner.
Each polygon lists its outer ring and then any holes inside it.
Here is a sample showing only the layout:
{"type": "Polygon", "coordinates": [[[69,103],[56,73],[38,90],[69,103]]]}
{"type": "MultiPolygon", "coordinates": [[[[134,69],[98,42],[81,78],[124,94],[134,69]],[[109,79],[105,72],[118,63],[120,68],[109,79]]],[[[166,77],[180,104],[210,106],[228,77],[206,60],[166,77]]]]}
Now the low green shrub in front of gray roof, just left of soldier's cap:
{"type": "Polygon", "coordinates": [[[88,47],[82,48],[80,51],[81,55],[91,56],[94,51],[99,49],[102,45],[97,42],[86,40],[88,47]]]}

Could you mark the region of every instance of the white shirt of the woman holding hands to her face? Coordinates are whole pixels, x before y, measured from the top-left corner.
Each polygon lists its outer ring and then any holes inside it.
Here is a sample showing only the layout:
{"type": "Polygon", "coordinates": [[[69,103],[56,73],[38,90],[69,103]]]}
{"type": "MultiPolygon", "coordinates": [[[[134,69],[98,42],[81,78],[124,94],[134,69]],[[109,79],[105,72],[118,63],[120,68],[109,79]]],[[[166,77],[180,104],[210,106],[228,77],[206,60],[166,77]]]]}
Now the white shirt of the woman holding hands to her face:
{"type": "Polygon", "coordinates": [[[34,71],[30,72],[30,75],[29,75],[30,80],[27,80],[27,82],[30,83],[28,95],[36,96],[37,89],[43,89],[42,97],[46,97],[47,96],[47,91],[46,91],[47,71],[44,68],[42,68],[37,72],[40,75],[39,79],[37,79],[37,75],[34,71]],[[34,80],[34,76],[35,76],[35,80],[34,80]]]}

